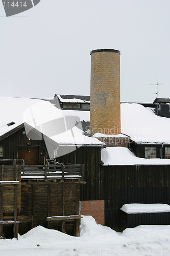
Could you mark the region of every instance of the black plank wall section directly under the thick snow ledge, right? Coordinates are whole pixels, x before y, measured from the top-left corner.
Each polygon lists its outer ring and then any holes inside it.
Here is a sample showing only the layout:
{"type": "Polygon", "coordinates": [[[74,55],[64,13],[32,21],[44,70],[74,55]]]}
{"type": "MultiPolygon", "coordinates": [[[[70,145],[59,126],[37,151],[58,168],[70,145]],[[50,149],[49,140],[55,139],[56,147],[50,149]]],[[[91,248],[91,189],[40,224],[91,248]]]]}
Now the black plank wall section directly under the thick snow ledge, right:
{"type": "Polygon", "coordinates": [[[102,166],[105,225],[122,231],[120,208],[127,203],[169,204],[170,165],[102,166]]]}

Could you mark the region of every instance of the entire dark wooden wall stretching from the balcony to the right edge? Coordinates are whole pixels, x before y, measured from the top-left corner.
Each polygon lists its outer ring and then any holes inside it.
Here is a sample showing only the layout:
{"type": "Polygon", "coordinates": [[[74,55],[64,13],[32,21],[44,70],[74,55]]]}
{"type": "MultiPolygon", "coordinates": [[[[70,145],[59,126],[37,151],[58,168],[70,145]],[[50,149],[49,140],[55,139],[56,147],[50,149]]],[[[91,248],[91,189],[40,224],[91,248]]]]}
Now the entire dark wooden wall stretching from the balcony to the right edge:
{"type": "Polygon", "coordinates": [[[85,164],[80,200],[105,200],[105,225],[117,231],[123,204],[170,203],[170,165],[103,166],[101,148],[83,146],[58,161],[85,164]]]}

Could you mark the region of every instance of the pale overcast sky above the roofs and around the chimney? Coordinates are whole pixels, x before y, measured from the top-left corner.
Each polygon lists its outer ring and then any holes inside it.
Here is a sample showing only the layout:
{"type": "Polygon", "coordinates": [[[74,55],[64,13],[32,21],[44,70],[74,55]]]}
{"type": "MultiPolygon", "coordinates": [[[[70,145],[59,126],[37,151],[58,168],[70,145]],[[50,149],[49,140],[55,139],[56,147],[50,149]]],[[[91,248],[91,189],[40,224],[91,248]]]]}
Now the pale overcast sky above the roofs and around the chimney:
{"type": "Polygon", "coordinates": [[[0,96],[90,95],[90,51],[120,55],[122,101],[170,98],[169,0],[41,0],[6,17],[0,2],[0,96]]]}

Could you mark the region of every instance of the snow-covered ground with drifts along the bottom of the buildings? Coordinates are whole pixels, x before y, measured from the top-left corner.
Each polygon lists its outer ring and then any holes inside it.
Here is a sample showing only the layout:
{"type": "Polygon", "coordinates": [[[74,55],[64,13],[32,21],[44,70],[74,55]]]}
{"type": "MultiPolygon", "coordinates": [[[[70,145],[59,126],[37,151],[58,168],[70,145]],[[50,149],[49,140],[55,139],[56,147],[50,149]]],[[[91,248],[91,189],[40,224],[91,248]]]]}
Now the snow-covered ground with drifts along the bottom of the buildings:
{"type": "Polygon", "coordinates": [[[38,226],[18,241],[0,240],[0,255],[170,255],[170,226],[144,225],[117,233],[97,225],[91,216],[83,216],[80,237],[38,226]]]}

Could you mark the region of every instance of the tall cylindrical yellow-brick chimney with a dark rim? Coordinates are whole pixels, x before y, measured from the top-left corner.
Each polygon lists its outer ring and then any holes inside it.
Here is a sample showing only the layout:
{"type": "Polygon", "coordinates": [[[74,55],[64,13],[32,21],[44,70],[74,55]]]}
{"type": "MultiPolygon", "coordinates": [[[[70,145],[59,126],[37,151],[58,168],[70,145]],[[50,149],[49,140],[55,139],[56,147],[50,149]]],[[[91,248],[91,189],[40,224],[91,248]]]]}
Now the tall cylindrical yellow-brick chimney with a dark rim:
{"type": "Polygon", "coordinates": [[[90,52],[90,133],[120,134],[120,51],[90,52]]]}

